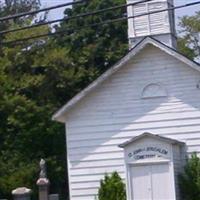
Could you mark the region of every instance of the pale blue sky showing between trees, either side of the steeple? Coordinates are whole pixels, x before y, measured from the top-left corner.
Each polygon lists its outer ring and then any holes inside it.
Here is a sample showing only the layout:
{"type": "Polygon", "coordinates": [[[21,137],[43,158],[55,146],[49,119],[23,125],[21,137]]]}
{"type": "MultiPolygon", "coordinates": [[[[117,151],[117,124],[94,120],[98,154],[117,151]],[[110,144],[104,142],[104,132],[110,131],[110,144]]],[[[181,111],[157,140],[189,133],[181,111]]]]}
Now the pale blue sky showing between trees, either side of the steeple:
{"type": "MultiPolygon", "coordinates": [[[[42,7],[49,7],[52,5],[58,5],[58,4],[67,3],[67,2],[71,2],[71,1],[72,0],[41,0],[41,4],[42,4],[42,7]]],[[[175,5],[182,5],[182,4],[196,2],[196,1],[197,0],[174,0],[175,5]]],[[[62,18],[64,10],[65,10],[65,8],[50,11],[49,16],[48,16],[49,20],[62,18]]],[[[192,15],[197,10],[200,10],[200,5],[176,10],[176,12],[175,12],[176,21],[178,22],[178,17],[181,17],[183,15],[192,15]]]]}

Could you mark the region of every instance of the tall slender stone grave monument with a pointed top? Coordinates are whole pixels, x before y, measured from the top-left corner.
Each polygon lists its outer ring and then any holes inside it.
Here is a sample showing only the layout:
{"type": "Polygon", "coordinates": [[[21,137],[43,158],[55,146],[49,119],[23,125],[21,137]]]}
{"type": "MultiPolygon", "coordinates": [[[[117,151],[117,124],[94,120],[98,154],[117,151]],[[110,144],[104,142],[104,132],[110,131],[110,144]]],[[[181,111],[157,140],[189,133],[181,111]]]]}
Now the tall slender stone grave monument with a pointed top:
{"type": "Polygon", "coordinates": [[[39,187],[39,200],[49,200],[49,185],[50,182],[46,176],[46,162],[44,159],[40,161],[40,177],[37,180],[39,187]]]}

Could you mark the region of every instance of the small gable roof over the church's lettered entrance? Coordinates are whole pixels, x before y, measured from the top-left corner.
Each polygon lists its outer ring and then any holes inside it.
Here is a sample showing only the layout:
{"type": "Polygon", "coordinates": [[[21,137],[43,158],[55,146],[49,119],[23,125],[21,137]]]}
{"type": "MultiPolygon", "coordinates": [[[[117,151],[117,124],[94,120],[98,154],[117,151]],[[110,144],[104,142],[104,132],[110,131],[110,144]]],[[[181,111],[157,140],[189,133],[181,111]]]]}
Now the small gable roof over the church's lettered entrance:
{"type": "Polygon", "coordinates": [[[131,140],[129,140],[127,142],[120,144],[119,147],[124,148],[124,147],[128,146],[129,144],[132,144],[132,143],[136,142],[137,140],[140,140],[140,139],[145,138],[145,137],[150,137],[150,138],[153,138],[155,140],[163,141],[163,142],[166,142],[166,143],[169,143],[169,144],[185,145],[184,142],[180,142],[178,140],[174,140],[174,139],[171,139],[171,138],[166,138],[166,137],[162,137],[160,135],[154,135],[152,133],[146,132],[146,133],[143,133],[139,136],[132,138],[131,140]]]}

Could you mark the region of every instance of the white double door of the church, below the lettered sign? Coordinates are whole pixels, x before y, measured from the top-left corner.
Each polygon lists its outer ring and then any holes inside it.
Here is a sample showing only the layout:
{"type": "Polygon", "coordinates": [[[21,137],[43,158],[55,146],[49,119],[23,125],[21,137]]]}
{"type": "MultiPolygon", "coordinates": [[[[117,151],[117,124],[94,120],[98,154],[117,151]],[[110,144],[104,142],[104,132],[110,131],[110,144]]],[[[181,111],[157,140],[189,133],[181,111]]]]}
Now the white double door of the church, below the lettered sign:
{"type": "Polygon", "coordinates": [[[169,165],[140,165],[131,167],[131,200],[175,200],[169,165]]]}

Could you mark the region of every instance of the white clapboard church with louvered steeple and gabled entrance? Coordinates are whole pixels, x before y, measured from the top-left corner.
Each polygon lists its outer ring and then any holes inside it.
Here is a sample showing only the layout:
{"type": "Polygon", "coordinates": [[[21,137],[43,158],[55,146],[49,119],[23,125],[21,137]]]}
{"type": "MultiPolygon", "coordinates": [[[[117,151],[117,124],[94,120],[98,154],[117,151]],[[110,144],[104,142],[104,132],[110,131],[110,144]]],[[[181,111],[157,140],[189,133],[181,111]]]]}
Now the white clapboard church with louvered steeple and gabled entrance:
{"type": "MultiPolygon", "coordinates": [[[[154,0],[128,16],[171,6],[154,0]]],[[[177,175],[200,152],[200,65],[177,52],[174,13],[128,26],[129,53],[53,116],[66,126],[71,200],[94,200],[114,171],[127,200],[180,200],[177,175]]]]}

